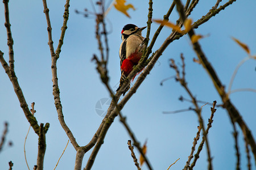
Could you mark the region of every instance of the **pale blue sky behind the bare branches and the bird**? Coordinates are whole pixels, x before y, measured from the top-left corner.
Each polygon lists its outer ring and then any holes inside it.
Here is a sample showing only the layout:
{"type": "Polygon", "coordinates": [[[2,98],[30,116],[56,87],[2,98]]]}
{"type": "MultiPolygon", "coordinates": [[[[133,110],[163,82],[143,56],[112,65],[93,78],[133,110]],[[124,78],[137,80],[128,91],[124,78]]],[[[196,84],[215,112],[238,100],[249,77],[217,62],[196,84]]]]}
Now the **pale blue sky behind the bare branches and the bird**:
{"type": "MultiPolygon", "coordinates": [[[[113,91],[116,90],[121,74],[118,51],[121,44],[122,27],[128,23],[144,27],[147,22],[148,2],[131,0],[128,2],[133,3],[136,8],[135,11],[129,10],[130,19],[114,8],[110,10],[106,19],[108,31],[111,32],[108,36],[110,46],[108,68],[110,86],[112,86],[113,91]]],[[[154,1],[153,18],[162,19],[171,2],[167,0],[154,1]]],[[[222,1],[220,5],[226,2],[222,1]]],[[[53,45],[56,49],[60,28],[63,24],[62,16],[65,1],[48,1],[47,3],[52,24],[53,45]]],[[[215,3],[216,1],[199,1],[199,5],[196,6],[191,18],[194,21],[201,18],[215,3]]],[[[57,71],[65,121],[79,145],[84,146],[93,137],[103,118],[96,112],[97,103],[104,101],[104,99],[110,99],[110,96],[101,83],[95,69],[96,64],[90,61],[94,53],[99,54],[94,35],[95,17],[90,15],[89,18],[84,18],[84,16],[75,13],[75,10],[82,11],[84,8],[93,11],[90,1],[71,1],[70,5],[68,29],[60,58],[57,61],[57,71]]],[[[200,40],[200,44],[226,87],[237,64],[247,56],[245,51],[230,37],[233,36],[245,42],[249,45],[251,53],[256,53],[255,6],[255,1],[236,1],[195,30],[201,35],[209,34],[208,37],[200,40]]],[[[49,122],[50,124],[46,135],[47,150],[44,169],[53,169],[67,144],[68,137],[57,119],[52,96],[51,55],[47,45],[48,34],[43,3],[42,1],[10,1],[9,8],[11,31],[14,39],[16,75],[28,105],[35,102],[35,116],[38,122],[44,124],[49,122]]],[[[175,9],[170,20],[175,23],[176,19],[177,12],[175,9]]],[[[4,23],[4,8],[3,3],[0,3],[0,49],[5,53],[5,59],[8,60],[4,23]]],[[[150,38],[158,26],[158,24],[152,23],[150,38]]],[[[170,33],[170,28],[163,28],[153,51],[160,47],[170,33]]],[[[146,36],[146,31],[142,35],[146,36]]],[[[203,67],[192,61],[196,54],[189,43],[189,38],[183,36],[168,46],[159,62],[152,69],[151,74],[147,76],[122,111],[127,116],[127,122],[139,141],[144,143],[147,139],[147,156],[154,169],[167,169],[178,158],[180,160],[171,169],[182,169],[191,152],[193,138],[199,125],[197,116],[192,111],[163,114],[163,112],[191,107],[191,103],[178,100],[180,95],[185,98],[189,97],[174,79],[168,80],[163,83],[163,86],[160,86],[163,79],[175,75],[175,71],[169,67],[170,58],[174,58],[176,62],[180,63],[180,53],[184,54],[188,87],[198,100],[209,103],[217,100],[217,104],[221,104],[221,99],[203,67]]],[[[255,66],[255,60],[247,61],[241,66],[234,79],[233,90],[256,88],[255,66]]],[[[14,144],[13,147],[5,146],[0,153],[0,169],[8,169],[10,160],[14,163],[13,169],[27,169],[23,156],[23,144],[29,124],[20,108],[13,86],[3,69],[0,69],[0,82],[0,131],[2,133],[3,123],[9,122],[7,142],[12,141],[14,144]]],[[[237,92],[230,97],[255,138],[256,94],[237,92]]],[[[107,107],[107,104],[102,105],[102,111],[105,111],[107,107]]],[[[202,116],[205,124],[207,124],[210,106],[203,107],[202,116]]],[[[228,114],[224,109],[218,107],[213,120],[212,128],[208,134],[213,156],[213,168],[235,169],[236,153],[234,151],[233,129],[228,114]]],[[[241,151],[241,169],[246,169],[245,144],[241,130],[239,130],[238,138],[241,151]]],[[[125,128],[116,118],[106,135],[104,145],[101,147],[92,169],[135,169],[130,150],[127,147],[127,140],[129,139],[125,128]]],[[[30,169],[36,164],[37,151],[38,136],[31,130],[26,143],[30,169]]],[[[82,167],[85,167],[90,152],[86,153],[82,167]]],[[[138,152],[135,153],[139,157],[138,152]]],[[[75,156],[76,151],[69,144],[57,169],[73,169],[75,156]]],[[[251,155],[252,169],[256,169],[253,160],[253,155],[251,155]]],[[[206,169],[206,167],[207,156],[204,149],[197,161],[196,169],[206,169]]],[[[142,168],[147,169],[146,165],[143,165],[142,168]]]]}

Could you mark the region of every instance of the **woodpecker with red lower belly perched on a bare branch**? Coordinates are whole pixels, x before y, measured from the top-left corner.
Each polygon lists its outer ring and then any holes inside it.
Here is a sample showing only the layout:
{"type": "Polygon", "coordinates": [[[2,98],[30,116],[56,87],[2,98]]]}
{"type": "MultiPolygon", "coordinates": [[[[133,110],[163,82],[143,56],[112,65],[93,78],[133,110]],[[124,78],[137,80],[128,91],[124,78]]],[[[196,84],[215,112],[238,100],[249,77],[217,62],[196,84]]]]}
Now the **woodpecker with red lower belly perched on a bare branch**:
{"type": "MultiPolygon", "coordinates": [[[[141,36],[141,32],[145,28],[146,27],[139,28],[134,24],[127,24],[122,29],[122,43],[119,48],[121,78],[117,91],[122,86],[123,81],[126,79],[126,77],[133,70],[133,66],[136,66],[141,59],[142,49],[144,48],[144,37],[141,36]]],[[[123,96],[129,90],[129,88],[130,83],[126,87],[125,91],[123,91],[123,96]]]]}

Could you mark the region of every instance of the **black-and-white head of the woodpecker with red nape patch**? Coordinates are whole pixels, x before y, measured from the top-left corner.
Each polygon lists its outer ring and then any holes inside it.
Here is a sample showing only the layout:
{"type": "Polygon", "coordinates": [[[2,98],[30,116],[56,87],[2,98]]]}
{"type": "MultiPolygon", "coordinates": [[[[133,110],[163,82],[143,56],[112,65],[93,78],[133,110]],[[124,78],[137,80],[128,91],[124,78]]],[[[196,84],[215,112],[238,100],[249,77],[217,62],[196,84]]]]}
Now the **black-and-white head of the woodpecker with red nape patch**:
{"type": "Polygon", "coordinates": [[[133,34],[137,34],[139,36],[141,36],[141,32],[143,29],[145,29],[147,27],[137,27],[136,25],[134,24],[127,24],[125,25],[125,27],[123,27],[122,29],[122,40],[125,40],[127,39],[127,37],[129,37],[130,35],[133,35],[133,34]]]}

